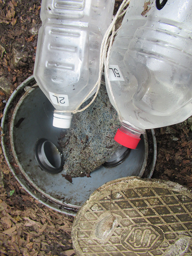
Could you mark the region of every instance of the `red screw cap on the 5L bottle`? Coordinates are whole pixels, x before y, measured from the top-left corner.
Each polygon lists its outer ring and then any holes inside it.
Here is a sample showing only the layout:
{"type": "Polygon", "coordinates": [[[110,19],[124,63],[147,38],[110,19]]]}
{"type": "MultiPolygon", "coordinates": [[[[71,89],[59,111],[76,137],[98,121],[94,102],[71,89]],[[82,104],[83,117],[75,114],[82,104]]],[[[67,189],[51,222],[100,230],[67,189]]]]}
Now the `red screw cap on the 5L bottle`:
{"type": "Polygon", "coordinates": [[[137,148],[140,138],[135,138],[118,129],[114,140],[119,144],[123,145],[124,147],[135,149],[137,148]]]}

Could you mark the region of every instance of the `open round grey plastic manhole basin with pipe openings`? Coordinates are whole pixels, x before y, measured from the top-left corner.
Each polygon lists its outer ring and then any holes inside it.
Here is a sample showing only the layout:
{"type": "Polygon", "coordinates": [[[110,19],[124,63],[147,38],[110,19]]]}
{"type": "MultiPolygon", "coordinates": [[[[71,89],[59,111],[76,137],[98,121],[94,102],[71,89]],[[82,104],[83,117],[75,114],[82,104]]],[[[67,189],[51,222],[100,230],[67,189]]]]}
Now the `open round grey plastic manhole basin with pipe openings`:
{"type": "Polygon", "coordinates": [[[58,144],[62,130],[52,125],[53,110],[31,76],[13,92],[1,123],[6,161],[21,186],[41,203],[75,215],[92,192],[104,183],[133,175],[152,176],[156,138],[154,131],[148,130],[136,150],[129,152],[123,148],[108,159],[108,163],[91,172],[91,177],[73,178],[72,183],[69,182],[62,169],[58,144]]]}

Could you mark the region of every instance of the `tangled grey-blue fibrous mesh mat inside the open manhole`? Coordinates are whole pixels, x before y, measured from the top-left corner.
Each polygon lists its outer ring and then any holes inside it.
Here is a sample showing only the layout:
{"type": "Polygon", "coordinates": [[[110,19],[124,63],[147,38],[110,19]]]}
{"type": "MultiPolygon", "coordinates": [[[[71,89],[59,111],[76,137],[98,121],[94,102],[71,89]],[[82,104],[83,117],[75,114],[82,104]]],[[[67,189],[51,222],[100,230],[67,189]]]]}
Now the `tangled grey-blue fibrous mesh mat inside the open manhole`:
{"type": "Polygon", "coordinates": [[[92,105],[83,112],[76,113],[70,129],[63,130],[61,134],[59,144],[64,155],[63,168],[67,174],[71,177],[88,176],[106,162],[121,148],[114,140],[118,128],[116,110],[109,101],[105,86],[101,84],[92,105]]]}

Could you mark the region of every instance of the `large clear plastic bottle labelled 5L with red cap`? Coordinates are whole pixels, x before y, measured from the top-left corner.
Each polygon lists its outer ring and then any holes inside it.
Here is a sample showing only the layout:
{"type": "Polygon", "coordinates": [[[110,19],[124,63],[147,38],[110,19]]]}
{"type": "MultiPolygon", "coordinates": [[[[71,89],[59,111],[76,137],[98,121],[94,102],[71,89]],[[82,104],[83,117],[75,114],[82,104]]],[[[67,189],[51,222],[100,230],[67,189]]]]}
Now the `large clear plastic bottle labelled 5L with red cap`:
{"type": "Polygon", "coordinates": [[[106,86],[122,124],[115,140],[130,148],[145,129],[192,115],[192,1],[156,4],[130,1],[110,53],[106,86]]]}

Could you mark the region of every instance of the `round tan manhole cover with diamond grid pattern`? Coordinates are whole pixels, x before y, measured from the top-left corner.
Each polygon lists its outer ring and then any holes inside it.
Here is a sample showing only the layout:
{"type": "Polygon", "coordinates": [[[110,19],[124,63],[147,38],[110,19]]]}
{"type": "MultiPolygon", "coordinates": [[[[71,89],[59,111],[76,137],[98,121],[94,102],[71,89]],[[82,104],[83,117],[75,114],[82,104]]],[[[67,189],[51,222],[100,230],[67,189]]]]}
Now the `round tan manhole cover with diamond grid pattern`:
{"type": "Polygon", "coordinates": [[[113,180],[81,207],[72,241],[80,256],[191,256],[192,193],[163,180],[113,180]]]}

